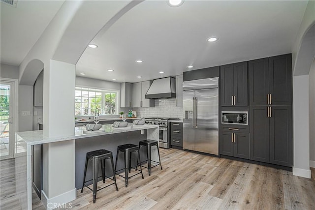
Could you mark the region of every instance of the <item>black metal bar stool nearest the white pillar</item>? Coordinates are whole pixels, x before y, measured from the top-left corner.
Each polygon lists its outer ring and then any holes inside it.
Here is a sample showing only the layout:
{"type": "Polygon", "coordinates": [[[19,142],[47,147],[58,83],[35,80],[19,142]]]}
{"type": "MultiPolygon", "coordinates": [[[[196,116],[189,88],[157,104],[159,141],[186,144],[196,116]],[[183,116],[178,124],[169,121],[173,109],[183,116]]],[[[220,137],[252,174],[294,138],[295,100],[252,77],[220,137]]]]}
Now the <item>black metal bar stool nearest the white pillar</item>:
{"type": "Polygon", "coordinates": [[[99,168],[99,162],[101,163],[101,171],[102,171],[102,179],[103,179],[103,183],[105,183],[105,177],[113,180],[114,183],[108,184],[107,186],[104,186],[98,190],[104,189],[105,187],[108,187],[110,185],[115,184],[116,186],[116,191],[118,191],[118,187],[117,187],[117,183],[116,183],[116,177],[115,177],[115,172],[114,172],[114,162],[113,162],[113,153],[111,151],[108,150],[95,150],[95,151],[89,151],[87,152],[87,156],[86,156],[86,160],[85,160],[85,168],[84,168],[84,178],[83,178],[83,185],[82,185],[82,189],[81,189],[81,193],[83,192],[83,187],[86,186],[88,187],[90,190],[93,191],[93,203],[95,203],[96,200],[96,192],[97,190],[97,181],[98,181],[98,168],[99,168]],[[110,159],[111,161],[111,165],[112,165],[112,172],[113,172],[113,179],[109,178],[105,175],[105,159],[110,159]],[[90,187],[88,187],[85,183],[91,180],[86,181],[86,175],[87,175],[87,168],[88,168],[88,163],[89,160],[92,160],[93,163],[93,189],[91,189],[90,187]]]}

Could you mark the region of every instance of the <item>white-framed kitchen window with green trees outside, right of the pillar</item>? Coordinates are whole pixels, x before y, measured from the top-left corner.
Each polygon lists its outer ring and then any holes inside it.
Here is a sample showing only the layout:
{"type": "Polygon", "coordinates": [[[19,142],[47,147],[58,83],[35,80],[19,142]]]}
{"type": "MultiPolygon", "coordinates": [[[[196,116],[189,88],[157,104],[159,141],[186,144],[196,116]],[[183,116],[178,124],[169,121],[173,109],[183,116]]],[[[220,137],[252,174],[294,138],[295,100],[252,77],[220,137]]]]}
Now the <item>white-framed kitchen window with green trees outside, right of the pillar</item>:
{"type": "Polygon", "coordinates": [[[118,105],[118,91],[75,88],[75,115],[115,115],[118,105]]]}

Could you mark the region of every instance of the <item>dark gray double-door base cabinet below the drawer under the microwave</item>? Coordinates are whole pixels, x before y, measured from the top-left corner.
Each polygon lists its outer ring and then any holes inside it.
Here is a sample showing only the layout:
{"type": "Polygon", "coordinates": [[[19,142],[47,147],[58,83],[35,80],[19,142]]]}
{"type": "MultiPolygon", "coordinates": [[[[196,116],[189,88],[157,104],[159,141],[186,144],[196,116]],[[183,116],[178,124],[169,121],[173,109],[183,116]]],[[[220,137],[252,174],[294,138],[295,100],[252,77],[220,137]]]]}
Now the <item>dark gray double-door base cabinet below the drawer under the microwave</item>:
{"type": "Polygon", "coordinates": [[[249,159],[250,134],[221,131],[220,154],[249,159]]]}

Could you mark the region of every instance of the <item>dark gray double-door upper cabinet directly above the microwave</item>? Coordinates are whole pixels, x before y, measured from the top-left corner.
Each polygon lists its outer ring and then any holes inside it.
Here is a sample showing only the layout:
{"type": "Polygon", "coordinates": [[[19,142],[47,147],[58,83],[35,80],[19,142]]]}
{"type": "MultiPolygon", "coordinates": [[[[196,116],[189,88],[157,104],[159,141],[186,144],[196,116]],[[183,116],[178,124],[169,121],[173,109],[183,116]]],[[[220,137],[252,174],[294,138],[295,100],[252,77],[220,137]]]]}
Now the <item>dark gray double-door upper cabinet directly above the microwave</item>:
{"type": "Polygon", "coordinates": [[[221,106],[247,106],[247,62],[223,65],[220,74],[221,106]]]}

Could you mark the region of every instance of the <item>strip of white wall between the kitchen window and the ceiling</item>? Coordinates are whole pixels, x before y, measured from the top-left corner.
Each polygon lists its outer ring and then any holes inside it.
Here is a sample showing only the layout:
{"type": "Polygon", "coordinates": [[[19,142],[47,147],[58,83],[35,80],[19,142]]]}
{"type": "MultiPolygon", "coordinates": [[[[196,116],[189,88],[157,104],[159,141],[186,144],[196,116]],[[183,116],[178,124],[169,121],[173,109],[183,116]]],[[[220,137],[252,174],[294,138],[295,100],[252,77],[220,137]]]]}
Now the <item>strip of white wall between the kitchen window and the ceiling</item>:
{"type": "Polygon", "coordinates": [[[76,76],[75,78],[75,85],[80,86],[80,87],[87,87],[87,88],[100,88],[100,89],[120,91],[120,83],[85,78],[85,77],[78,77],[78,76],[76,76]]]}

